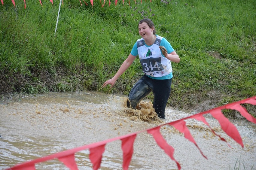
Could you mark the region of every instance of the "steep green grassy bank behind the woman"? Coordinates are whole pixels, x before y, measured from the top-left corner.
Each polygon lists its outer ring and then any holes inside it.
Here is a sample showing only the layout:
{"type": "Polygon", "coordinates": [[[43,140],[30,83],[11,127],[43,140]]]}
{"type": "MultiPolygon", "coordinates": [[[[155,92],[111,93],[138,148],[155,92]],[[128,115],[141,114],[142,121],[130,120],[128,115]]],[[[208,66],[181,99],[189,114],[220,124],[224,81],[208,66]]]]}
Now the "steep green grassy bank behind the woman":
{"type": "MultiPolygon", "coordinates": [[[[99,1],[11,1],[0,5],[0,93],[100,90],[140,38],[138,21],[153,20],[181,58],[172,63],[168,105],[216,107],[256,95],[254,0],[128,1],[103,8],[99,1]],[[89,3],[88,3],[89,4],[89,3]],[[206,103],[204,103],[206,102],[206,103]]],[[[111,93],[128,94],[142,76],[139,59],[111,93]]],[[[152,95],[149,96],[152,98],[152,95]]],[[[206,108],[205,108],[206,109],[206,108]]],[[[255,107],[249,106],[249,111],[255,107]]],[[[227,114],[230,111],[226,111],[227,114]]]]}

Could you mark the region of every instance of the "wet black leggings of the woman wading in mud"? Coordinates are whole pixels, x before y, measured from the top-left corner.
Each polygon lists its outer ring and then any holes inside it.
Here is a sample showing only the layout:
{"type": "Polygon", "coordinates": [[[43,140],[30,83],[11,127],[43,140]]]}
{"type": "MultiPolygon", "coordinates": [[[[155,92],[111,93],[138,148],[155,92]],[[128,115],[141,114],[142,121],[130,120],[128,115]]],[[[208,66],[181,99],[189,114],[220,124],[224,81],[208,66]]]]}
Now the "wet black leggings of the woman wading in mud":
{"type": "Polygon", "coordinates": [[[127,101],[127,106],[136,108],[139,102],[152,91],[154,94],[153,107],[157,112],[158,117],[164,119],[165,107],[171,93],[171,84],[172,78],[166,80],[155,80],[144,75],[130,91],[128,95],[130,102],[127,101]]]}

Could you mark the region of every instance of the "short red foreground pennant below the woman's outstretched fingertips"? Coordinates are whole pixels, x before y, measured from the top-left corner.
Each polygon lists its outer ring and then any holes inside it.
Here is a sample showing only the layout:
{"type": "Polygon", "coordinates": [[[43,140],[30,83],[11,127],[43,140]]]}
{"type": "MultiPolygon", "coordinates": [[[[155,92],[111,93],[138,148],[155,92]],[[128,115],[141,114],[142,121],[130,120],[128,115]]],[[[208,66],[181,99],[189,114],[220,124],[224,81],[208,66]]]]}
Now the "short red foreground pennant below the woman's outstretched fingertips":
{"type": "Polygon", "coordinates": [[[102,154],[105,151],[105,145],[106,144],[90,148],[89,158],[93,164],[93,170],[97,170],[100,167],[102,154]]]}

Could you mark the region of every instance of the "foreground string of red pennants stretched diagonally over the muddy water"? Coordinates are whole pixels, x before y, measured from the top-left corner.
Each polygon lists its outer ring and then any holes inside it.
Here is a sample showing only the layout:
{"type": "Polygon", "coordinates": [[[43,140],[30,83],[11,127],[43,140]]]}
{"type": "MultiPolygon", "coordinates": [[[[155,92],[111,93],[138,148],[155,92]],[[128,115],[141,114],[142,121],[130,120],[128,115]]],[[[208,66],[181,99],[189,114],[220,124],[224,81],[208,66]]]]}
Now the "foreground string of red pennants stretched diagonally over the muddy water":
{"type": "MultiPolygon", "coordinates": [[[[153,127],[151,129],[145,129],[139,132],[134,132],[131,134],[127,134],[127,135],[123,135],[120,137],[115,137],[115,138],[110,138],[108,140],[105,141],[99,141],[93,144],[88,144],[88,145],[84,145],[81,147],[77,147],[74,149],[70,149],[70,150],[65,150],[59,153],[55,153],[49,156],[45,156],[45,157],[41,157],[38,159],[34,159],[34,160],[30,160],[27,162],[23,162],[21,164],[17,164],[11,168],[8,168],[6,170],[35,170],[35,164],[39,163],[39,162],[45,162],[51,159],[59,159],[60,162],[62,162],[64,165],[66,165],[68,168],[70,168],[71,170],[78,170],[77,164],[75,162],[75,153],[79,152],[81,150],[86,150],[89,149],[90,150],[90,154],[89,154],[89,158],[91,163],[93,164],[93,170],[97,170],[100,168],[100,164],[102,161],[102,154],[105,151],[105,145],[109,142],[112,141],[116,141],[116,140],[121,140],[121,149],[123,151],[123,169],[127,170],[129,168],[130,165],[130,161],[132,159],[132,155],[133,155],[133,144],[136,138],[136,135],[138,133],[141,132],[148,132],[149,134],[151,134],[154,138],[154,140],[156,141],[157,145],[164,150],[164,152],[173,160],[175,161],[177,168],[181,169],[181,165],[179,164],[179,162],[174,158],[174,148],[172,146],[170,146],[166,140],[163,138],[162,134],[160,133],[160,128],[161,126],[173,126],[175,129],[177,129],[179,132],[184,134],[184,137],[186,139],[188,139],[189,141],[191,141],[192,143],[195,144],[195,146],[199,149],[200,153],[202,154],[202,156],[204,158],[207,159],[207,157],[203,154],[203,152],[200,150],[200,148],[198,147],[196,141],[194,140],[193,136],[190,134],[189,129],[186,126],[186,122],[184,120],[186,119],[196,119],[198,121],[203,122],[204,124],[206,124],[211,131],[218,136],[222,141],[227,142],[224,138],[222,138],[220,135],[216,134],[214,132],[214,130],[209,126],[209,123],[206,121],[206,119],[203,117],[203,114],[211,114],[212,117],[214,117],[216,120],[218,120],[218,122],[220,123],[221,129],[227,134],[229,135],[234,141],[236,141],[238,144],[240,144],[242,146],[242,148],[244,147],[243,142],[242,142],[242,138],[238,132],[238,130],[236,129],[236,126],[233,125],[221,112],[221,110],[223,109],[232,109],[232,110],[236,110],[239,111],[241,113],[241,115],[243,117],[245,117],[248,121],[252,122],[252,123],[256,123],[256,119],[247,112],[247,110],[241,106],[241,104],[251,104],[251,105],[256,105],[256,96],[248,98],[248,99],[244,99],[238,102],[233,102],[224,106],[220,106],[218,108],[214,108],[208,111],[204,111],[198,114],[194,114],[192,116],[189,117],[185,117],[179,120],[175,120],[173,122],[169,122],[169,123],[164,123],[161,124],[159,126],[153,127]]],[[[230,146],[228,144],[228,146],[230,146]]]]}

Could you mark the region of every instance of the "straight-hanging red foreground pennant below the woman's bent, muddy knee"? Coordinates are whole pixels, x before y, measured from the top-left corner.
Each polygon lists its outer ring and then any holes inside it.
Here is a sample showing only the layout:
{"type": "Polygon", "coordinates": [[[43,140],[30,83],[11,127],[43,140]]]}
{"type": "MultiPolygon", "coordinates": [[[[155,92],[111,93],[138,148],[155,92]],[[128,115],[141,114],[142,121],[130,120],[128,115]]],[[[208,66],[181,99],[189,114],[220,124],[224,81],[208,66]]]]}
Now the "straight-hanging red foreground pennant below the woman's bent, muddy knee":
{"type": "Polygon", "coordinates": [[[132,135],[126,138],[121,139],[122,141],[122,150],[123,150],[123,169],[128,170],[132,156],[133,156],[133,143],[136,138],[136,135],[132,135]]]}

